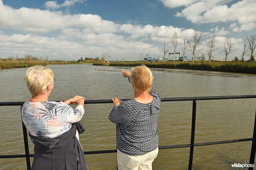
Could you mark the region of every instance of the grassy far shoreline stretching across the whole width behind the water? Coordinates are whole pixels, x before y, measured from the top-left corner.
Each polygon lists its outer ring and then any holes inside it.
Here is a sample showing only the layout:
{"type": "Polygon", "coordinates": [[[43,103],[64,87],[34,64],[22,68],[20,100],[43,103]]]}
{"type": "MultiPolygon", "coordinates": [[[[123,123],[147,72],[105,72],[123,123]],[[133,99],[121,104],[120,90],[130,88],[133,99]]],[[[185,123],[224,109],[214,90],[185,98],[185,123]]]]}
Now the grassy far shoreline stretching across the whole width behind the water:
{"type": "Polygon", "coordinates": [[[145,64],[149,68],[161,69],[185,69],[185,70],[203,70],[203,71],[221,71],[231,73],[256,74],[256,63],[250,62],[113,62],[113,63],[96,63],[96,62],[67,62],[67,61],[47,61],[47,62],[22,62],[22,63],[0,63],[0,70],[25,68],[35,65],[66,65],[66,64],[88,64],[95,66],[126,66],[136,67],[145,64]]]}

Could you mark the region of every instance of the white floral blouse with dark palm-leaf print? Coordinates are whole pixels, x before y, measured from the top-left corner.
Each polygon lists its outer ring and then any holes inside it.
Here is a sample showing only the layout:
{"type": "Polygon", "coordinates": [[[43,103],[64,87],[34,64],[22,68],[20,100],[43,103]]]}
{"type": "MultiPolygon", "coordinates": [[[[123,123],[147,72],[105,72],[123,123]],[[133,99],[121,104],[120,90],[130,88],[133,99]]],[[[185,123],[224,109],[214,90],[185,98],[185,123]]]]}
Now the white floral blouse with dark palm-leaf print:
{"type": "Polygon", "coordinates": [[[84,107],[75,109],[69,105],[54,101],[26,101],[21,109],[22,121],[29,133],[42,138],[54,138],[67,132],[72,123],[78,122],[84,115],[84,107]]]}

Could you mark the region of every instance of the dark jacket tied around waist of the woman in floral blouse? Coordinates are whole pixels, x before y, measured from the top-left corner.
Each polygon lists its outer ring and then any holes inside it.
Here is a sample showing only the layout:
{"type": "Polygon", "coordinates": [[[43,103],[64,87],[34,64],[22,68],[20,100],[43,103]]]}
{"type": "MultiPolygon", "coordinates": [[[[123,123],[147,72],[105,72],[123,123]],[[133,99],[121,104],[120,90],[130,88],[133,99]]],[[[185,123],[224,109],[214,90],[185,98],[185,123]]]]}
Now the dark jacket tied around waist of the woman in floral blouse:
{"type": "Polygon", "coordinates": [[[72,128],[55,138],[41,138],[30,135],[34,147],[32,170],[88,170],[83,149],[76,138],[84,132],[80,122],[72,124],[72,128]]]}

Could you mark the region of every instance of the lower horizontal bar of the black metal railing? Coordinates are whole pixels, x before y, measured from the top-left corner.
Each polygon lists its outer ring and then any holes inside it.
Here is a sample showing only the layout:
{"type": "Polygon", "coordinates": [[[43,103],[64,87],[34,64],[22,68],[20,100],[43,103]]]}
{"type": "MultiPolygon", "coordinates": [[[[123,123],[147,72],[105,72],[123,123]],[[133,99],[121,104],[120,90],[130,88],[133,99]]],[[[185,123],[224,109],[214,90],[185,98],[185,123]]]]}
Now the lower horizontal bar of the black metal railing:
{"type": "MultiPolygon", "coordinates": [[[[214,145],[214,144],[228,144],[228,143],[235,143],[235,142],[246,142],[246,141],[255,141],[254,138],[246,138],[246,139],[234,139],[234,140],[226,140],[226,141],[216,141],[216,142],[207,142],[207,143],[198,143],[194,144],[194,146],[206,146],[206,145],[214,145]]],[[[190,147],[191,144],[180,144],[180,145],[170,145],[170,146],[159,146],[158,149],[172,149],[172,148],[185,148],[190,147]]],[[[84,152],[85,155],[90,154],[100,154],[100,153],[116,153],[117,150],[102,150],[102,151],[86,151],[84,152]]],[[[29,154],[29,158],[34,157],[34,154],[29,154]]],[[[0,159],[4,158],[26,158],[26,155],[0,155],[0,159]]]]}

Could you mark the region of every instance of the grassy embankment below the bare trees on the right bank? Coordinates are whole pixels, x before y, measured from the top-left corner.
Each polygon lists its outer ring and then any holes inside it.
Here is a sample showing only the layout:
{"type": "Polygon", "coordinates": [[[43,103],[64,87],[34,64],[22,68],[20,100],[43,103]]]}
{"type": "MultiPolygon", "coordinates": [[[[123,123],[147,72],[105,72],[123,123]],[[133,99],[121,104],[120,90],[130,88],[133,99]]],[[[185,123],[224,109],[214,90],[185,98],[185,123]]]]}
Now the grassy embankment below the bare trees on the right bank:
{"type": "Polygon", "coordinates": [[[166,69],[190,69],[190,70],[209,70],[224,71],[236,73],[256,74],[256,63],[251,62],[120,62],[120,63],[93,63],[93,65],[109,66],[127,66],[135,67],[145,64],[149,68],[166,68],[166,69]]]}

